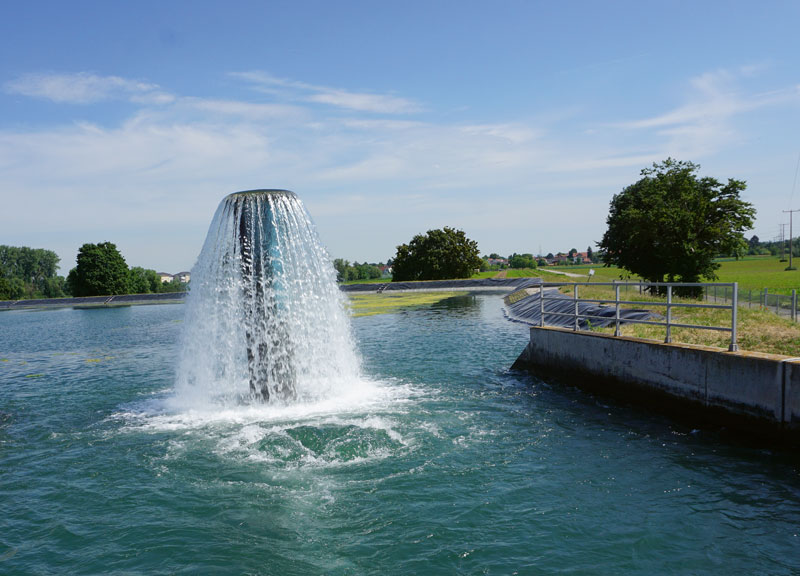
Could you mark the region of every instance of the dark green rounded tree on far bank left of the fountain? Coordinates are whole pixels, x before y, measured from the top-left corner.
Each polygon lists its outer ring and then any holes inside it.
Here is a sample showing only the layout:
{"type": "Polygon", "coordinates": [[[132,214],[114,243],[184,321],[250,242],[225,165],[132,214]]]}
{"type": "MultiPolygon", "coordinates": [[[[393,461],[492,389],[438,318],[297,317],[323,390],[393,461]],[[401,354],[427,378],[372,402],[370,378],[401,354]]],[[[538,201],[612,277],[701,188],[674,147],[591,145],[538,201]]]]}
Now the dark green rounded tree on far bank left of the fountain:
{"type": "Polygon", "coordinates": [[[129,271],[125,258],[111,242],[84,244],[78,265],[70,270],[67,285],[73,296],[128,294],[129,271]]]}

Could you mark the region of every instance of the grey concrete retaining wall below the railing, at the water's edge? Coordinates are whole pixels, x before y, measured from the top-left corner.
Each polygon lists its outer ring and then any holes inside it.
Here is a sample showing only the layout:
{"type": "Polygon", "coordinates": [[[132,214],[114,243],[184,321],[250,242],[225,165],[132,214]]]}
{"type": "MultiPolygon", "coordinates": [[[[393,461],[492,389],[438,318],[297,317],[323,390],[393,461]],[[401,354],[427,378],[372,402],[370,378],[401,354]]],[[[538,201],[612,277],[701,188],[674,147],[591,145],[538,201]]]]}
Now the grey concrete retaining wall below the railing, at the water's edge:
{"type": "Polygon", "coordinates": [[[800,438],[800,358],[531,328],[514,367],[701,421],[800,438]]]}

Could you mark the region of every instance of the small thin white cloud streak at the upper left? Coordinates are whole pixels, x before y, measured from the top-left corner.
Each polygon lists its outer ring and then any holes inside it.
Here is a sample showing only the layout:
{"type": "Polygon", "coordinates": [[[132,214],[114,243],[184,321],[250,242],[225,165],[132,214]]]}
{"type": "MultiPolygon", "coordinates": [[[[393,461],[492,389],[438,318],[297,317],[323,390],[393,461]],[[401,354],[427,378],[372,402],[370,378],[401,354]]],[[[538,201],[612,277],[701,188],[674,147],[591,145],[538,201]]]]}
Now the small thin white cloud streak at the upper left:
{"type": "Polygon", "coordinates": [[[25,74],[5,84],[6,92],[69,104],[131,99],[142,104],[164,104],[174,97],[157,84],[119,76],[77,74],[25,74]]]}

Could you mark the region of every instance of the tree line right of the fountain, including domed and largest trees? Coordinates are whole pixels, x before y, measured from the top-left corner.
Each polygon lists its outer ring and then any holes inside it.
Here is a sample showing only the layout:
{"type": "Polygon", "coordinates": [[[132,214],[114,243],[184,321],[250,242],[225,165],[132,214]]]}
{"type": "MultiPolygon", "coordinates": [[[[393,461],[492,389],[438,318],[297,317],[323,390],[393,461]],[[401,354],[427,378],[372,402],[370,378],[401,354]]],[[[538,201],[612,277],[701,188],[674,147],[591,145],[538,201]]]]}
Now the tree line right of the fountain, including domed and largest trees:
{"type": "MultiPolygon", "coordinates": [[[[745,182],[733,178],[720,182],[699,176],[699,169],[673,158],[643,169],[638,181],[611,199],[608,228],[596,252],[587,248],[586,259],[600,259],[649,282],[697,283],[717,278],[719,256],[738,257],[748,251],[780,254],[783,245],[762,243],[755,236],[748,242],[744,237],[756,214],[753,205],[741,199],[745,182]]],[[[568,257],[576,254],[573,248],[568,257]]],[[[461,230],[429,230],[397,247],[393,279],[468,278],[493,257],[498,259],[497,254],[481,259],[477,243],[461,230]]],[[[508,258],[512,268],[537,264],[532,254],[508,258]]]]}

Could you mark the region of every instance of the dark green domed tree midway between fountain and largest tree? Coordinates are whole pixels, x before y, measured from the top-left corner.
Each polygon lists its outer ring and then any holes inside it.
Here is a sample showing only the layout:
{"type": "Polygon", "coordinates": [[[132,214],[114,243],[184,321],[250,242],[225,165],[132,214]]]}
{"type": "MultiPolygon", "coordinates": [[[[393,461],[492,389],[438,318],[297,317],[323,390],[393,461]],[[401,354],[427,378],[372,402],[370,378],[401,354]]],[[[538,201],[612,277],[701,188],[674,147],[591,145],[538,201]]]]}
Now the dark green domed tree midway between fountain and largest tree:
{"type": "Polygon", "coordinates": [[[392,281],[447,280],[469,278],[480,269],[478,243],[462,230],[447,226],[417,234],[408,244],[397,247],[392,281]]]}

